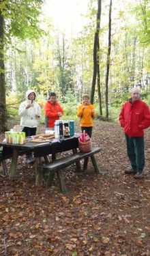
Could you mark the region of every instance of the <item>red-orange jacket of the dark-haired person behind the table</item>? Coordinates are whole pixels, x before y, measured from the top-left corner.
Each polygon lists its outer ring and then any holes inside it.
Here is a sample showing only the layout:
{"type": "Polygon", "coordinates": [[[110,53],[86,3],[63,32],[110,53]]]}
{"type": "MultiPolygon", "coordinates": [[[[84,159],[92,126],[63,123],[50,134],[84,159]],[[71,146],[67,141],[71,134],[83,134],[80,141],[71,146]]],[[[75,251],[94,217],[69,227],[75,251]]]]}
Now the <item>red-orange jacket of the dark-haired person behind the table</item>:
{"type": "Polygon", "coordinates": [[[55,126],[55,121],[59,120],[58,112],[61,112],[63,115],[63,109],[61,109],[61,106],[59,105],[59,102],[55,102],[55,104],[52,104],[50,100],[46,102],[44,106],[45,116],[46,116],[46,127],[52,128],[55,126]]]}

